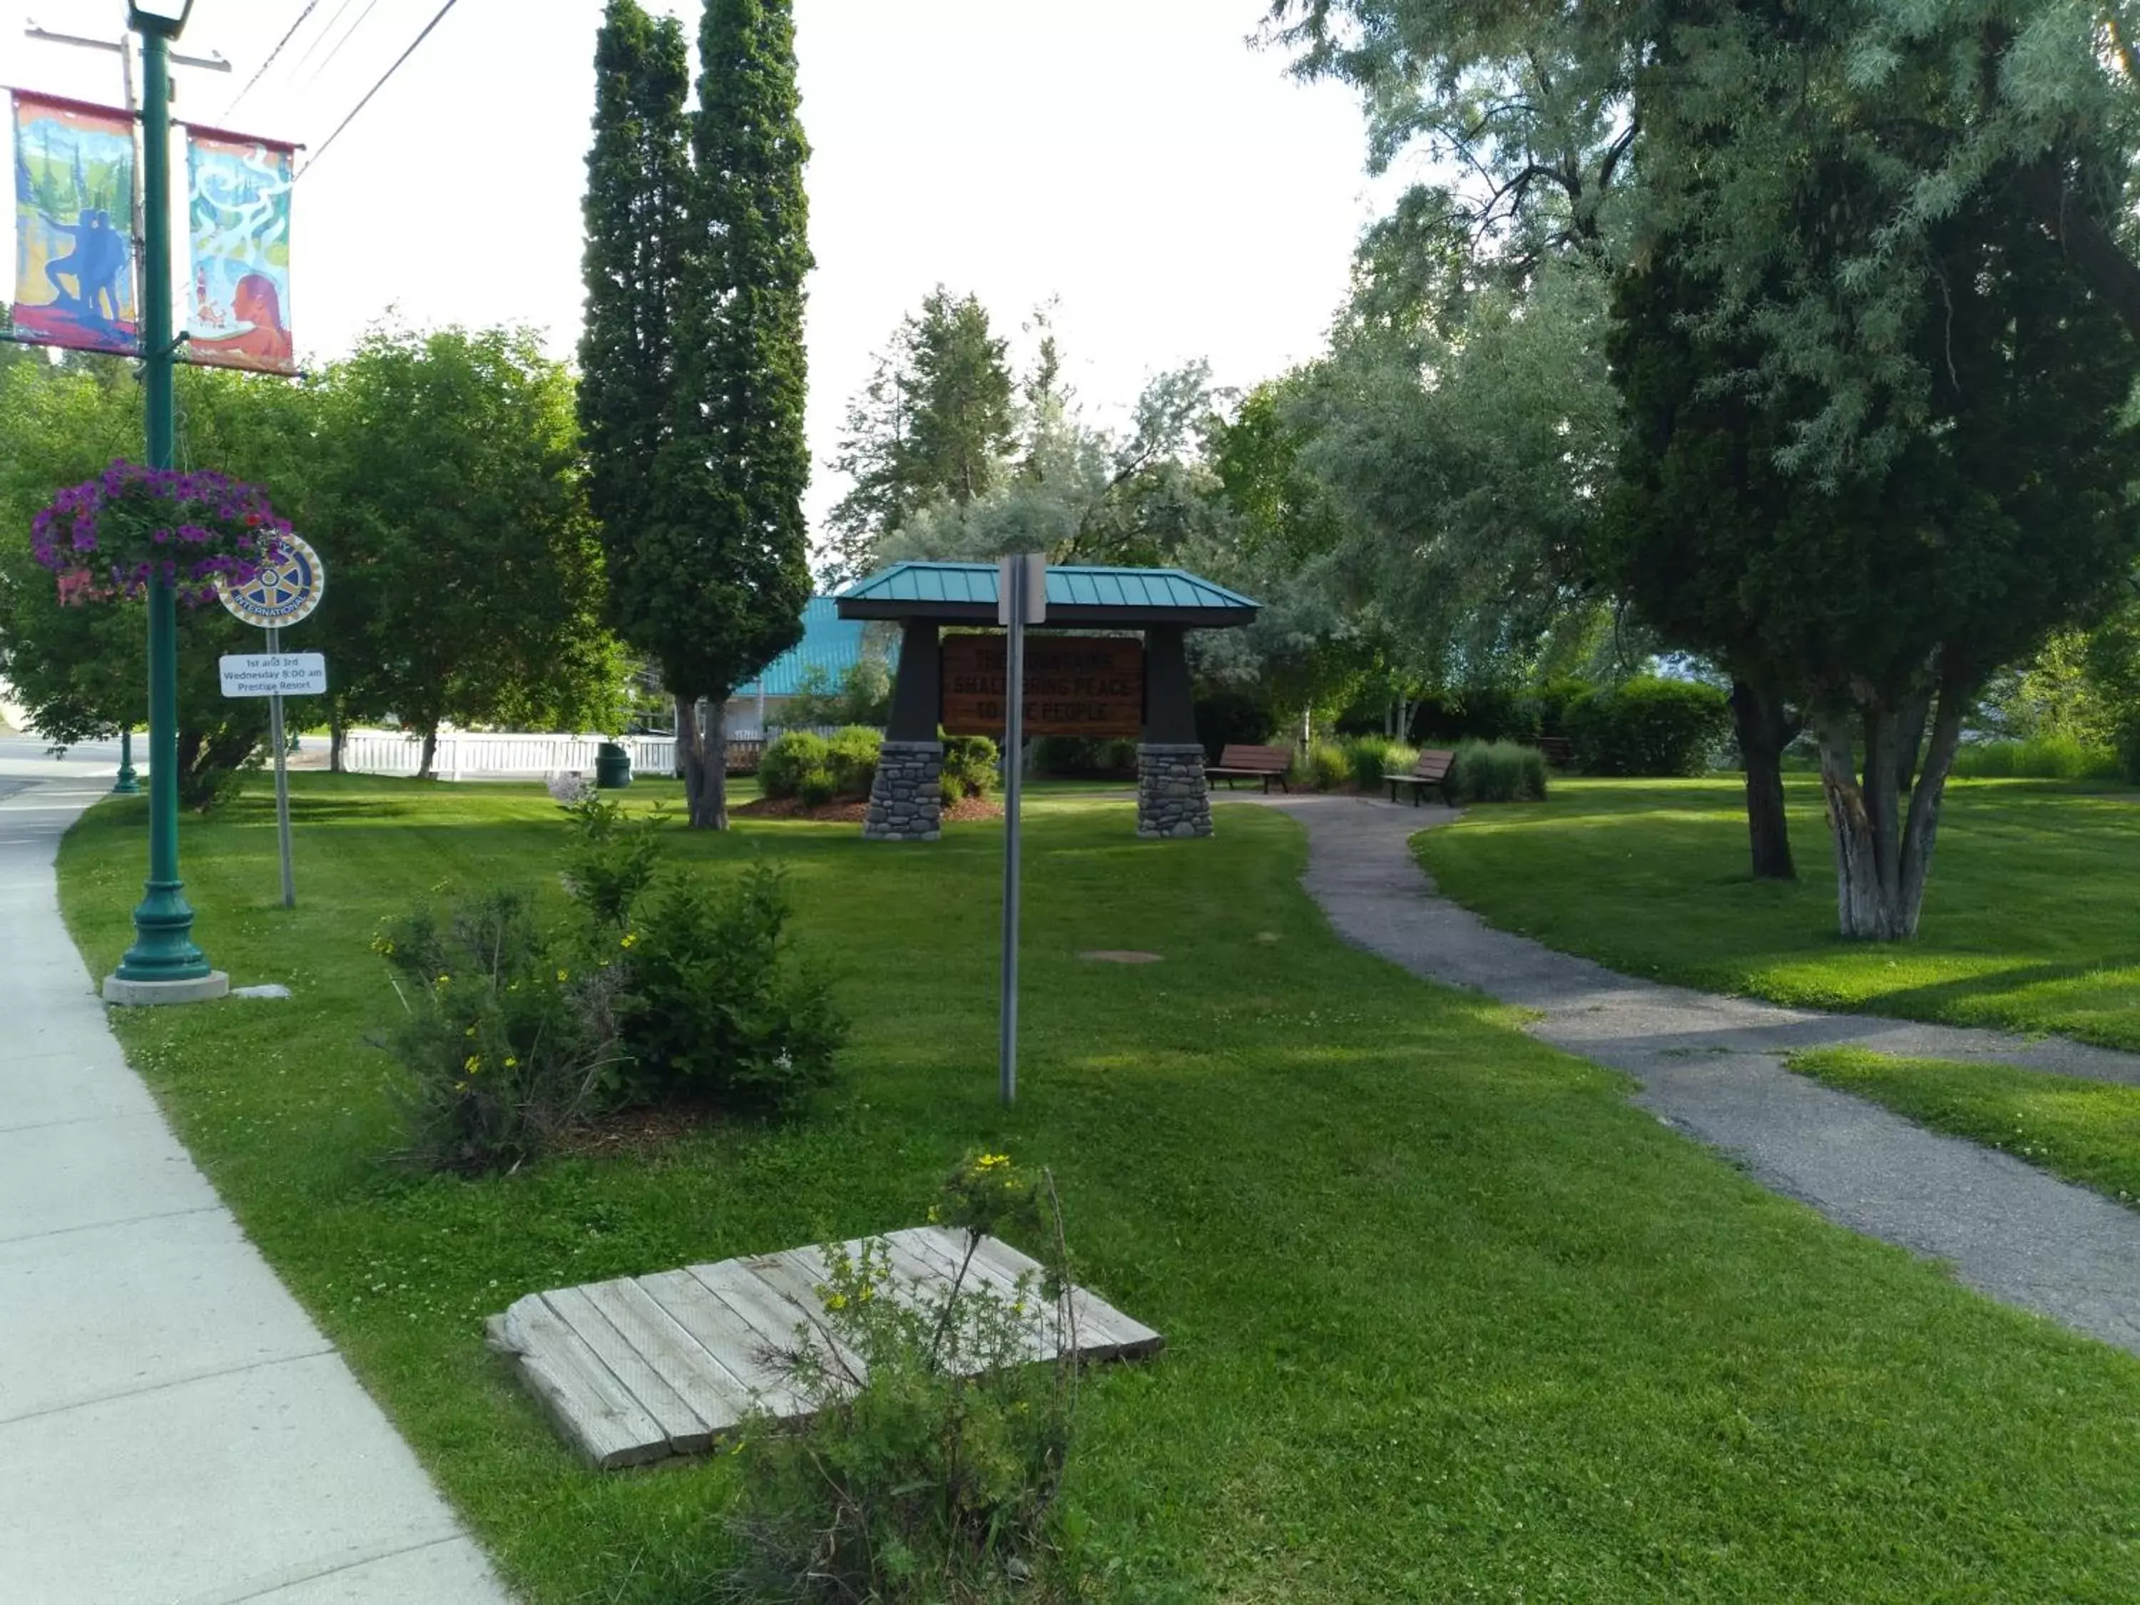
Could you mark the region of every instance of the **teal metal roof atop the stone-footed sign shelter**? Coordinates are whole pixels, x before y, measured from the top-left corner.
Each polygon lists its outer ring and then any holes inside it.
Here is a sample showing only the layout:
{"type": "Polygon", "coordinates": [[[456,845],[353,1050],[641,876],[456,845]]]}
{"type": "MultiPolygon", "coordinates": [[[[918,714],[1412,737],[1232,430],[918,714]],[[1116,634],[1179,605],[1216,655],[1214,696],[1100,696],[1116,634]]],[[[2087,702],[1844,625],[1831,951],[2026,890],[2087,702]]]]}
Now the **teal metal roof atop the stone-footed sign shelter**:
{"type": "MultiPolygon", "coordinates": [[[[1250,623],[1258,606],[1183,569],[1049,569],[1049,623],[1226,627],[1250,623]]],[[[895,563],[841,591],[839,614],[993,623],[995,565],[895,563]]]]}

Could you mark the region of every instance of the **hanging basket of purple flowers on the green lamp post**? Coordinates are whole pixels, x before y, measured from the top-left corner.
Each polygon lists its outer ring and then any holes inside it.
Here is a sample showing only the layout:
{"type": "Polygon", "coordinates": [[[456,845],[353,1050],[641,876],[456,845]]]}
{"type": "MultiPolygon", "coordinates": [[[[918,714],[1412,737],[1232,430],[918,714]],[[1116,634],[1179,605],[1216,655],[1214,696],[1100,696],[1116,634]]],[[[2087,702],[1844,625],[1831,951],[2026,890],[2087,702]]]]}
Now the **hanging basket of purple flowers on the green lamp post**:
{"type": "Polygon", "coordinates": [[[66,606],[139,597],[160,574],[180,601],[199,608],[216,599],[218,578],[246,584],[280,561],[282,535],[289,520],[259,486],[120,458],[39,511],[30,552],[60,576],[66,606]]]}

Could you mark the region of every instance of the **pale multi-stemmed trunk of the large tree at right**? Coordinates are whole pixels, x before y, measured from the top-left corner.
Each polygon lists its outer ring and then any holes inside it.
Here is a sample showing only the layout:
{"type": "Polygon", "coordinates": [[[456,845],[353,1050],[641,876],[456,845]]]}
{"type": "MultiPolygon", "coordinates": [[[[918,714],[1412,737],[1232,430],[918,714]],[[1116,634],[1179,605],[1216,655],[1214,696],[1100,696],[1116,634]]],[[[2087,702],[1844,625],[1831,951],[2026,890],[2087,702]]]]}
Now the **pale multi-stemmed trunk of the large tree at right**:
{"type": "Polygon", "coordinates": [[[1967,698],[1954,687],[1939,693],[1932,740],[1909,792],[1909,809],[1894,779],[1909,713],[1877,704],[1860,708],[1864,723],[1864,779],[1855,773],[1849,710],[1823,710],[1821,790],[1828,796],[1828,826],[1836,841],[1836,922],[1845,937],[1900,942],[1917,935],[1924,882],[1932,873],[1932,843],[1939,835],[1939,805],[1947,773],[1962,740],[1967,698]]]}

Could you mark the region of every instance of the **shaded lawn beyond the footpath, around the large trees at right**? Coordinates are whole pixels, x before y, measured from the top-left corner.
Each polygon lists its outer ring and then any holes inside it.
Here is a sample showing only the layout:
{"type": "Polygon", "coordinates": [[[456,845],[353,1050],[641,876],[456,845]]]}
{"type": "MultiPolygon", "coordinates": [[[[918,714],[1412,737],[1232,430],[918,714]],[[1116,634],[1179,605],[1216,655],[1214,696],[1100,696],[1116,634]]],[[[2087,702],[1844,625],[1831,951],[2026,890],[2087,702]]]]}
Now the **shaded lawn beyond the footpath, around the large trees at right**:
{"type": "Polygon", "coordinates": [[[1744,788],[1558,781],[1415,839],[1455,901],[1509,931],[1778,1004],[2059,1031],[2140,1049],[2140,805],[2059,781],[1956,781],[1915,942],[1836,935],[1821,790],[1789,777],[1795,884],[1746,869],[1744,788]]]}

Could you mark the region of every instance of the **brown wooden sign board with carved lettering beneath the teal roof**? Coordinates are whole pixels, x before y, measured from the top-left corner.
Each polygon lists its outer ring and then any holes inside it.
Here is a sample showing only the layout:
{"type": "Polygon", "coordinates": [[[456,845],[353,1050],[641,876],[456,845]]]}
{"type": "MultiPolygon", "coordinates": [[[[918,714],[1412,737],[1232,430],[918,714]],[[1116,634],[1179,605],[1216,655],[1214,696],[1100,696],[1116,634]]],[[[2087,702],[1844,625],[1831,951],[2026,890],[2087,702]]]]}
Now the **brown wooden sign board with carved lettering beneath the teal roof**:
{"type": "MultiPolygon", "coordinates": [[[[944,638],[944,730],[1004,734],[1004,636],[944,638]]],[[[1145,730],[1145,644],[1134,636],[1027,636],[1027,736],[1138,736],[1145,730]]]]}

